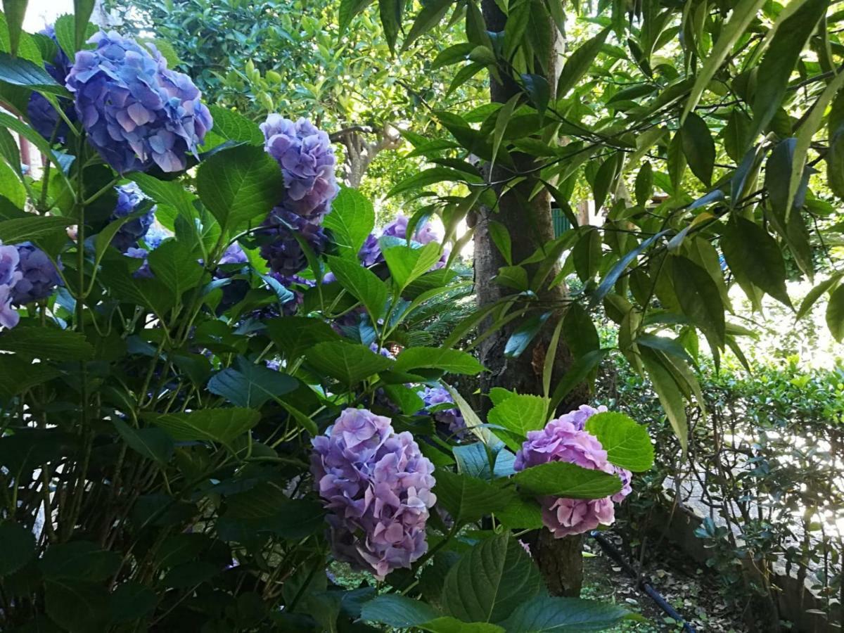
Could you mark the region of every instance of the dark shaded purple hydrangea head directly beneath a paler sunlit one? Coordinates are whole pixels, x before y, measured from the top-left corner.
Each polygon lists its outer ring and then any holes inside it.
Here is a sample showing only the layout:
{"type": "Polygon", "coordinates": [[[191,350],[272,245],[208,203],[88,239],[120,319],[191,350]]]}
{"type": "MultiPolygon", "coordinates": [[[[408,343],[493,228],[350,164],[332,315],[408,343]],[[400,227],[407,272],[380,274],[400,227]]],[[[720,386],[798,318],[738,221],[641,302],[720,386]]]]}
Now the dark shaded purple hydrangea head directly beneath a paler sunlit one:
{"type": "Polygon", "coordinates": [[[328,246],[322,226],[284,207],[273,208],[263,225],[268,229],[261,231],[266,240],[261,246],[261,257],[267,260],[273,273],[289,276],[307,268],[308,260],[295,238],[296,233],[317,255],[325,252],[328,246]]]}

